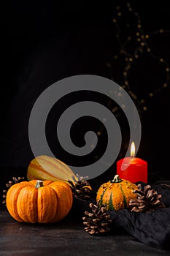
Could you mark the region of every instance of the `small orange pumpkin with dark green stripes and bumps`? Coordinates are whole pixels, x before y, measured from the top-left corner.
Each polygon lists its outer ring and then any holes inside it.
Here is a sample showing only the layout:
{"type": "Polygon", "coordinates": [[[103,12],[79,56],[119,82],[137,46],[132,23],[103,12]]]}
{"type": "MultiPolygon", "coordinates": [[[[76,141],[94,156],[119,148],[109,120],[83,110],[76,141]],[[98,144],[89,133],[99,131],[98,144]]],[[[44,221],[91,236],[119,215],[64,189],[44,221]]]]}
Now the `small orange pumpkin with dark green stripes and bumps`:
{"type": "Polygon", "coordinates": [[[138,189],[136,184],[120,179],[116,175],[112,181],[108,181],[99,187],[96,201],[99,201],[100,206],[106,206],[107,210],[118,211],[123,208],[130,208],[129,200],[137,198],[134,189],[138,189]]]}

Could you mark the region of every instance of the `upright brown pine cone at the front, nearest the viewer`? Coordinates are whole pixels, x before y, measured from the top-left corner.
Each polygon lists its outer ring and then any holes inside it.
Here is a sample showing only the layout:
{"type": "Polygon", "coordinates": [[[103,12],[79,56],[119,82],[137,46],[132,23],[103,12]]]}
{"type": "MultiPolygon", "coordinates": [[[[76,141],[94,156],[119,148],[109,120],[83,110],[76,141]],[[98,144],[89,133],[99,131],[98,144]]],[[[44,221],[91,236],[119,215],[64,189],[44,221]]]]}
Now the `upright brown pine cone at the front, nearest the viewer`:
{"type": "Polygon", "coordinates": [[[86,217],[82,217],[83,225],[86,226],[85,231],[90,235],[107,233],[110,230],[109,224],[112,220],[109,212],[105,206],[98,206],[98,203],[90,203],[91,212],[85,211],[86,217]]]}

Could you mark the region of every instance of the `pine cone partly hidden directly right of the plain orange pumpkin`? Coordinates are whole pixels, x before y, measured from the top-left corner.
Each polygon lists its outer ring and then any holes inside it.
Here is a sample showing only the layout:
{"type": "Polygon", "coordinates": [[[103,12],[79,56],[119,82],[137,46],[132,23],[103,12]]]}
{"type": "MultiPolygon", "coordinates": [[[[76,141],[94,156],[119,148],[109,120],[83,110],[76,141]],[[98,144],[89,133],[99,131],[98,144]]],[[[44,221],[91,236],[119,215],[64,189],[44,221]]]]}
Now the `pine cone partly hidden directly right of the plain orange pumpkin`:
{"type": "Polygon", "coordinates": [[[77,180],[72,176],[73,181],[69,181],[69,184],[72,186],[71,189],[74,197],[82,200],[89,200],[92,195],[92,188],[90,187],[89,182],[85,180],[85,178],[88,177],[82,177],[79,174],[76,176],[77,180]]]}

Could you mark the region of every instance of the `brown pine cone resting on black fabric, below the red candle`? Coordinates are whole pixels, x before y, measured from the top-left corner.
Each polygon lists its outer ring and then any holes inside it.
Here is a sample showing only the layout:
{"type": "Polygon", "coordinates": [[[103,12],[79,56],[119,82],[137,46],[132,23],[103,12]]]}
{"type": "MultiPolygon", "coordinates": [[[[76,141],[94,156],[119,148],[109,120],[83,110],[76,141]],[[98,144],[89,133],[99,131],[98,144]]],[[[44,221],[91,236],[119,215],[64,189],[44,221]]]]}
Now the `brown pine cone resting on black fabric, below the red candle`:
{"type": "Polygon", "coordinates": [[[158,195],[158,192],[152,189],[150,185],[144,186],[144,189],[142,189],[142,185],[139,184],[138,188],[139,190],[134,190],[137,198],[129,201],[129,205],[132,207],[131,211],[150,212],[166,207],[161,202],[162,195],[158,195]]]}

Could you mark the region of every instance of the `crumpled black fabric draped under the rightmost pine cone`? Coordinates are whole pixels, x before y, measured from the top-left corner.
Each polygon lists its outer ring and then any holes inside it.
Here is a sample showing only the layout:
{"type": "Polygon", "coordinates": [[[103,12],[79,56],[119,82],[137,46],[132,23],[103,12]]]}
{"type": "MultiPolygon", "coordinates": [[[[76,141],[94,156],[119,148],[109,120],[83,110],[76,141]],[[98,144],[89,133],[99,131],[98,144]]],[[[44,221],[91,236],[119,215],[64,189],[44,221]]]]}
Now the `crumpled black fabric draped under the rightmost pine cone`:
{"type": "Polygon", "coordinates": [[[112,229],[122,227],[149,246],[170,249],[170,208],[150,213],[134,213],[127,209],[111,212],[112,229]]]}

